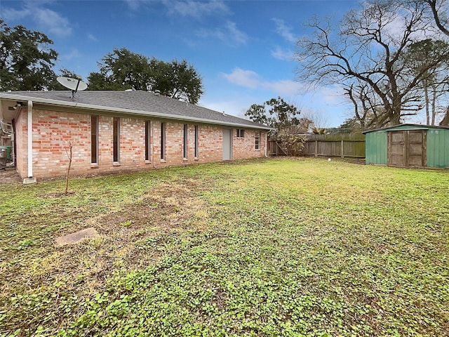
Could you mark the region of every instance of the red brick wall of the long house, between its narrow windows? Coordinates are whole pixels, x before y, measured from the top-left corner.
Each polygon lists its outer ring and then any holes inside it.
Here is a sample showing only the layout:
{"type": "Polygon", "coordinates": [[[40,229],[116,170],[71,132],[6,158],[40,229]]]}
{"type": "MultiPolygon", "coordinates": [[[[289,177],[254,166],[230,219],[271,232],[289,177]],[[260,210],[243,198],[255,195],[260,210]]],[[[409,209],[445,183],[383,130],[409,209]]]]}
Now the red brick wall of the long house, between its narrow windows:
{"type": "MultiPolygon", "coordinates": [[[[72,143],[71,174],[95,175],[142,171],[164,166],[222,161],[222,127],[199,124],[199,153],[194,157],[194,126],[187,124],[187,158],[183,155],[184,122],[166,124],[166,156],[161,159],[161,120],[152,119],[149,159],[145,161],[145,120],[119,119],[119,162],[113,161],[113,117],[98,117],[98,163],[91,163],[91,115],[70,112],[33,110],[33,176],[50,178],[65,176],[69,159],[66,150],[72,143]]],[[[27,112],[16,122],[18,172],[27,177],[27,112]]],[[[236,138],[233,130],[233,158],[264,156],[264,132],[260,150],[255,150],[255,131],[246,129],[244,138],[236,138]]]]}

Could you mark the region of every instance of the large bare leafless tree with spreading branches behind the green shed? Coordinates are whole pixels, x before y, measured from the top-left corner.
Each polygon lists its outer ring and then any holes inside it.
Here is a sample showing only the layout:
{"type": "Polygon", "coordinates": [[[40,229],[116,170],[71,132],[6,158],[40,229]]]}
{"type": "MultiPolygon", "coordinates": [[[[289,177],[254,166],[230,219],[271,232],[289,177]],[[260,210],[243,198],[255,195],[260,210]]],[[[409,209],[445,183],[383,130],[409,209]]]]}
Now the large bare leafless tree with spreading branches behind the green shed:
{"type": "MultiPolygon", "coordinates": [[[[406,76],[400,62],[403,51],[419,40],[429,29],[422,4],[403,6],[387,0],[371,0],[359,11],[349,11],[335,32],[330,20],[323,25],[313,18],[308,27],[311,37],[297,42],[300,62],[298,79],[313,84],[339,84],[347,88],[349,98],[368,98],[375,109],[382,111],[377,126],[397,125],[401,119],[416,114],[422,108],[416,88],[427,70],[437,67],[443,57],[429,60],[413,77],[406,76]],[[381,110],[378,107],[382,107],[381,110]]],[[[408,74],[407,74],[408,75],[408,74]]]]}

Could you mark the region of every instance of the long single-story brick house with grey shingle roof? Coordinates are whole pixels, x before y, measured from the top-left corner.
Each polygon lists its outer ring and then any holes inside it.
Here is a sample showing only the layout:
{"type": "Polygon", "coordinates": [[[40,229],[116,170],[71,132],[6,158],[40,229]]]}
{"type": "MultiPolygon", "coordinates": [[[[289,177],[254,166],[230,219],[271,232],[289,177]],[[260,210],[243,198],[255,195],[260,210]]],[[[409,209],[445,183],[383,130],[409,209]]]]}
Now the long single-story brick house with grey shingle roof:
{"type": "Polygon", "coordinates": [[[271,128],[147,91],[0,93],[22,178],[145,171],[264,157],[271,128]],[[32,126],[29,128],[29,126],[32,126]]]}

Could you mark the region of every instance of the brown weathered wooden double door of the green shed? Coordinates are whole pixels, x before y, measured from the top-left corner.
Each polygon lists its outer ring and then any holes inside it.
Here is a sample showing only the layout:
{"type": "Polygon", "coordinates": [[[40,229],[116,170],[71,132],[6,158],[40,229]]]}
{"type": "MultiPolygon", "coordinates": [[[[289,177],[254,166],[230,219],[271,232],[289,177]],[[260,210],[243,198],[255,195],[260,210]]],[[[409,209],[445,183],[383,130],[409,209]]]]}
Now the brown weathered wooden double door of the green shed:
{"type": "Polygon", "coordinates": [[[388,164],[391,166],[426,166],[426,131],[389,131],[388,164]]]}

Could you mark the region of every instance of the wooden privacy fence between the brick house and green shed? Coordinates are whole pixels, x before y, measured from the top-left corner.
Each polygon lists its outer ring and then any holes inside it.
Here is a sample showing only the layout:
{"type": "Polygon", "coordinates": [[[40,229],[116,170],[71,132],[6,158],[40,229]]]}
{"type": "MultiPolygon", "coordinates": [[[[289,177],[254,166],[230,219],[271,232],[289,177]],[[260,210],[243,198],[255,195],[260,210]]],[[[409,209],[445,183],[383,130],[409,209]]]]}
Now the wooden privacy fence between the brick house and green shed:
{"type": "MultiPolygon", "coordinates": [[[[303,156],[365,158],[365,135],[361,133],[305,136],[307,142],[303,156]]],[[[286,153],[279,140],[269,140],[268,154],[277,156],[286,153]]]]}

